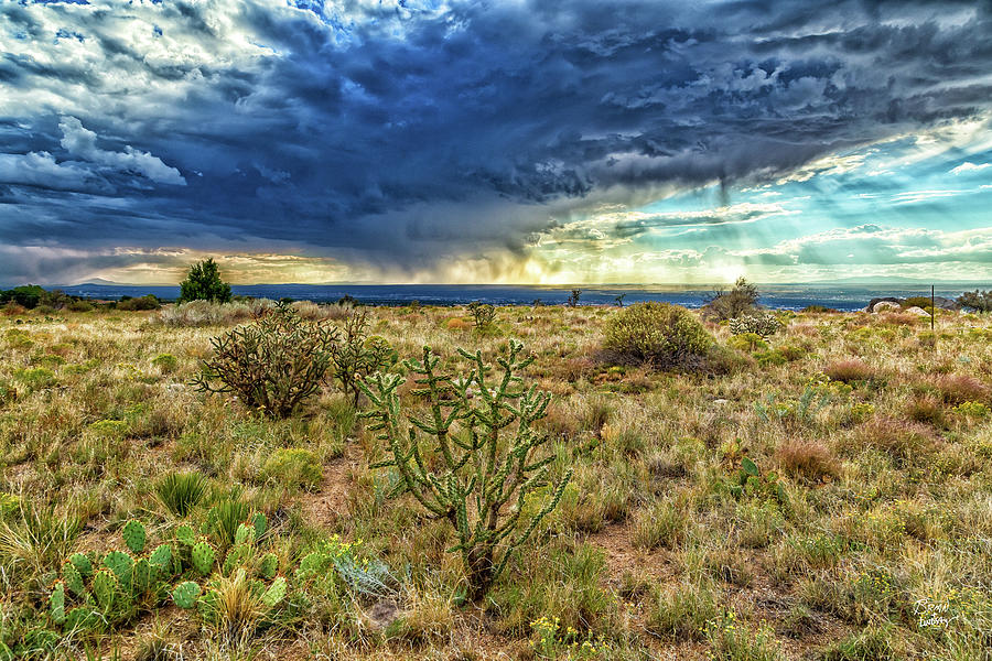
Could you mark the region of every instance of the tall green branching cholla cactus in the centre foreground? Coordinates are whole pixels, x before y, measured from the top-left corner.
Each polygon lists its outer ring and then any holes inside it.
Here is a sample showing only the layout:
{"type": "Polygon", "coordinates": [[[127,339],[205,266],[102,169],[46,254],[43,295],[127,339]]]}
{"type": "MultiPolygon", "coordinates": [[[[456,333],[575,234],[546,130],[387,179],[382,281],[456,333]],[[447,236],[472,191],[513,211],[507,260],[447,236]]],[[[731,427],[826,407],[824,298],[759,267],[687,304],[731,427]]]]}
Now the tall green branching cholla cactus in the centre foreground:
{"type": "Polygon", "coordinates": [[[432,514],[448,519],[459,535],[451,549],[462,554],[468,597],[481,598],[506,567],[513,552],[561,500],[571,479],[569,470],[550,490],[550,499],[521,524],[525,505],[536,489],[549,486],[553,456],[533,458],[548,438],[533,429],[544,416],[551,395],[525,388],[517,376],[533,360],[521,359],[524,345],[510,340],[494,369],[482,353],[459,349],[471,364],[466,378],[440,373],[440,358],[423,348],[422,360],[403,361],[421,388],[413,395],[425,400],[430,415],[401,416],[397,388],[402,377],[376,372],[360,383],[371,402],[362,413],[389,444],[390,458],[374,467],[395,466],[401,481],[392,496],[409,491],[432,514]],[[405,420],[409,429],[403,430],[405,420]],[[507,434],[511,437],[507,438],[507,434]],[[438,462],[425,462],[422,437],[438,462]],[[439,466],[432,469],[430,466],[439,466]]]}

